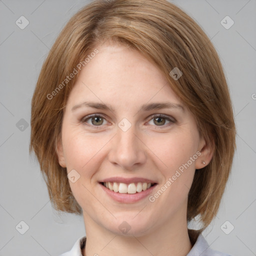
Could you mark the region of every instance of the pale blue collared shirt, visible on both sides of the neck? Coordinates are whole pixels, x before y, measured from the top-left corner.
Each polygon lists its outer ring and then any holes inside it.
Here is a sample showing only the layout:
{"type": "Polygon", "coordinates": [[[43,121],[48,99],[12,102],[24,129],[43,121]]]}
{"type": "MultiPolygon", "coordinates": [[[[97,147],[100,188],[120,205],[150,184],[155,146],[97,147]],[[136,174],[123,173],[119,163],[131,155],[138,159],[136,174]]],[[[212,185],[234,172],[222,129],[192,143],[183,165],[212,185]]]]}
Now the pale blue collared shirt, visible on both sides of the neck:
{"type": "MultiPolygon", "coordinates": [[[[71,250],[59,256],[82,256],[81,248],[85,245],[86,236],[81,236],[76,240],[71,250]]],[[[202,234],[199,234],[193,247],[186,256],[230,256],[229,254],[213,250],[209,247],[202,234]]]]}

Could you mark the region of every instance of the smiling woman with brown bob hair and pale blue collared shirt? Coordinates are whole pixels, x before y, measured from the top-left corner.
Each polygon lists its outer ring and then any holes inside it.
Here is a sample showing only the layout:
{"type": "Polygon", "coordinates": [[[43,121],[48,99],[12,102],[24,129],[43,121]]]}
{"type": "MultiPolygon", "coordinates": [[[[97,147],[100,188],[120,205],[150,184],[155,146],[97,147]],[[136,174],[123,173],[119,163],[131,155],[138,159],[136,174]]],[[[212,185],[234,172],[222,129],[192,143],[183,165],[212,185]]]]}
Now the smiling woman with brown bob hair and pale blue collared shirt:
{"type": "Polygon", "coordinates": [[[57,210],[86,236],[62,255],[227,255],[201,232],[235,148],[232,106],[202,29],[165,0],[95,0],[53,44],[30,151],[57,210]],[[202,227],[188,229],[199,216],[202,227]]]}

